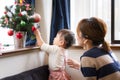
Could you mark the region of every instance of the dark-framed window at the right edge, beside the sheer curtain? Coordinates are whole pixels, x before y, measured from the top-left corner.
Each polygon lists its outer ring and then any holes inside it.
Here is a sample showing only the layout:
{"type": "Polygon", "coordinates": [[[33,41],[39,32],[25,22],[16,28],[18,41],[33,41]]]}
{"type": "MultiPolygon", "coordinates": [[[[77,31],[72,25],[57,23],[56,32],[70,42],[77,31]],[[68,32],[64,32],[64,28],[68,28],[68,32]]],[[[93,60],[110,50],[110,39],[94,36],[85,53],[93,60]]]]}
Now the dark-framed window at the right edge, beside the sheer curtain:
{"type": "Polygon", "coordinates": [[[120,0],[112,0],[112,29],[111,40],[113,44],[120,44],[120,0]]]}

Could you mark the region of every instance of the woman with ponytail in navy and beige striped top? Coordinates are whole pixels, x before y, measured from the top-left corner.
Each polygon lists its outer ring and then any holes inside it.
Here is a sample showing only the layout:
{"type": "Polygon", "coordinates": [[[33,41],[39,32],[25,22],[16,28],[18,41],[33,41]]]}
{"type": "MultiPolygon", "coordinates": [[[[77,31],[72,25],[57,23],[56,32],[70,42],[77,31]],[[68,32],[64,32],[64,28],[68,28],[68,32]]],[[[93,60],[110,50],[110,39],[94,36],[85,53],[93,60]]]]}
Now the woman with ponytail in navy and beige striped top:
{"type": "Polygon", "coordinates": [[[106,24],[98,18],[83,19],[77,27],[77,40],[86,52],[80,63],[68,59],[70,67],[81,69],[86,80],[120,80],[120,65],[105,41],[106,24]]]}

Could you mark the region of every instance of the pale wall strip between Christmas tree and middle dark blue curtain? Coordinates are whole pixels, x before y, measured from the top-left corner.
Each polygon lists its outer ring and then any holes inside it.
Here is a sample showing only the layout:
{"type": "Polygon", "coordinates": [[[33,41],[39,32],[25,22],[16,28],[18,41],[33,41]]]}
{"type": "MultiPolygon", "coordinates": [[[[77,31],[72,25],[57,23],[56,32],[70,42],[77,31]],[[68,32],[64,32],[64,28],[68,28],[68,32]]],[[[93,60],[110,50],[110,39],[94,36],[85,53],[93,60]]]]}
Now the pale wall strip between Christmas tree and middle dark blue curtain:
{"type": "Polygon", "coordinates": [[[43,40],[46,43],[49,43],[52,0],[36,0],[35,4],[36,12],[39,13],[42,17],[40,21],[41,35],[43,40]]]}

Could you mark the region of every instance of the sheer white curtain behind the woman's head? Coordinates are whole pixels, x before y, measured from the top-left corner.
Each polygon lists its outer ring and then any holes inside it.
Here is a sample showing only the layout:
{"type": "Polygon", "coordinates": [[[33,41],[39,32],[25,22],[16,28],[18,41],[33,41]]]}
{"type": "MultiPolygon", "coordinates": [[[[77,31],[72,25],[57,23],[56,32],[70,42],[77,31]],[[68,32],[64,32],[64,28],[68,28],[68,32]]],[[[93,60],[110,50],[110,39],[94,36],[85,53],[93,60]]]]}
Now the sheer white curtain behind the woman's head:
{"type": "Polygon", "coordinates": [[[106,40],[111,41],[111,0],[71,0],[71,30],[76,33],[78,22],[83,18],[103,19],[108,32],[106,40]]]}

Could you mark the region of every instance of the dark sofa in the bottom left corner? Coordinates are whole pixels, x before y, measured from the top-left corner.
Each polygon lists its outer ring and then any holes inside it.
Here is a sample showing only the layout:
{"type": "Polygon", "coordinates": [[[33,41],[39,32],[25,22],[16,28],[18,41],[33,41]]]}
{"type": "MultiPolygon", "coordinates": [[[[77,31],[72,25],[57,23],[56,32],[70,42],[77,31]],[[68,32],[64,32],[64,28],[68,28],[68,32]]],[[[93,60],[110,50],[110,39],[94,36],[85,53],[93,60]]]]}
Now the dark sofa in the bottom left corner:
{"type": "Polygon", "coordinates": [[[48,65],[44,65],[0,80],[48,80],[48,76],[48,65]]]}

